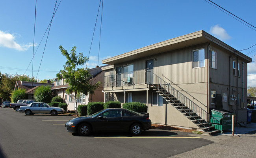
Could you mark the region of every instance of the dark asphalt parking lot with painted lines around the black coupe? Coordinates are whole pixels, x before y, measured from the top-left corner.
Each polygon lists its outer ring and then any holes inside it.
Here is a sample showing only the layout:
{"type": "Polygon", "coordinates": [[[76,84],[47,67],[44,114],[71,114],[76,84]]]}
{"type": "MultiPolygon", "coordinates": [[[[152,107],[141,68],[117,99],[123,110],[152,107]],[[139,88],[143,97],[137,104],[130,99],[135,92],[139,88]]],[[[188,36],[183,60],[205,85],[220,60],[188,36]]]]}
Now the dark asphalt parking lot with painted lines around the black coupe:
{"type": "Polygon", "coordinates": [[[0,109],[0,157],[169,157],[213,143],[189,133],[150,129],[130,133],[68,133],[72,116],[0,109]]]}

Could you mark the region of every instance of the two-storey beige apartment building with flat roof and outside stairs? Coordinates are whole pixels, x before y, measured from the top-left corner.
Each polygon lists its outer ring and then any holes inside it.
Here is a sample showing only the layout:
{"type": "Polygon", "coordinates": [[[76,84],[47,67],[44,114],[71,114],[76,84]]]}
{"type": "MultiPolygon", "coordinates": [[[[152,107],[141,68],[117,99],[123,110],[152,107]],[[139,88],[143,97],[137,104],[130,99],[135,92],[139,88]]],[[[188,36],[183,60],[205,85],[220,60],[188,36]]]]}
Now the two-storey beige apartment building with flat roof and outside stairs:
{"type": "Polygon", "coordinates": [[[197,31],[102,60],[105,101],[145,103],[153,123],[209,130],[211,108],[246,123],[251,61],[197,31]]]}

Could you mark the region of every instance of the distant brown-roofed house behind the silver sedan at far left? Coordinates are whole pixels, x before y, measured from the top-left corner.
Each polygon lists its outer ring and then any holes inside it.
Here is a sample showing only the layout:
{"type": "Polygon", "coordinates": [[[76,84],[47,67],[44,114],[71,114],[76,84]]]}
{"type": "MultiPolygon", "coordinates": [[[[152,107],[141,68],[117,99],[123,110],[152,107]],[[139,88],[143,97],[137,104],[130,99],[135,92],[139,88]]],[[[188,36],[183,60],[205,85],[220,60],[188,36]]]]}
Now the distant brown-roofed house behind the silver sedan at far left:
{"type": "Polygon", "coordinates": [[[53,87],[54,84],[51,84],[50,80],[47,80],[47,83],[40,83],[40,82],[28,82],[28,81],[16,81],[15,84],[15,89],[26,89],[26,94],[28,95],[28,99],[34,99],[34,94],[33,92],[35,91],[35,89],[39,86],[47,86],[50,85],[50,87],[53,87]]]}

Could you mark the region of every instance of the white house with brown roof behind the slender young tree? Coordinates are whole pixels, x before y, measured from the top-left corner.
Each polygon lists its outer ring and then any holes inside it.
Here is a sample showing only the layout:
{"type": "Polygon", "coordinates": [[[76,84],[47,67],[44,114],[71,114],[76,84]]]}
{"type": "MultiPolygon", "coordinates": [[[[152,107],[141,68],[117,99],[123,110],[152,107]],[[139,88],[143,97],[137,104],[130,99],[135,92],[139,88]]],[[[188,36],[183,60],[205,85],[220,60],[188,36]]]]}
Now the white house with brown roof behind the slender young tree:
{"type": "MultiPolygon", "coordinates": [[[[104,102],[104,93],[102,93],[103,90],[103,76],[104,71],[102,71],[102,67],[95,67],[93,69],[89,69],[89,72],[92,76],[90,79],[91,84],[95,84],[96,82],[100,81],[102,85],[100,85],[100,88],[96,89],[94,91],[95,94],[80,94],[80,98],[77,98],[78,105],[81,104],[88,104],[89,102],[104,102]]],[[[61,96],[63,98],[64,103],[67,103],[68,110],[75,110],[76,109],[76,102],[75,102],[75,96],[74,93],[67,94],[66,89],[69,87],[68,84],[65,83],[65,80],[58,80],[58,78],[54,78],[54,87],[52,87],[52,90],[54,92],[54,95],[61,96]]]]}

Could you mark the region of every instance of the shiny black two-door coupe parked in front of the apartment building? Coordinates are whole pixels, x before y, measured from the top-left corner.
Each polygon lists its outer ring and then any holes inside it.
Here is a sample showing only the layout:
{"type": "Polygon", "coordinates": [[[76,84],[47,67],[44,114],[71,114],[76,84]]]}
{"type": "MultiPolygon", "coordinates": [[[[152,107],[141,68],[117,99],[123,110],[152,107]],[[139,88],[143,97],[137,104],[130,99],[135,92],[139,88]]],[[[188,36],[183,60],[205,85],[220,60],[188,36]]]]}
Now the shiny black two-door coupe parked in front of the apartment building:
{"type": "Polygon", "coordinates": [[[65,124],[70,133],[88,136],[98,131],[130,131],[132,135],[139,135],[151,128],[148,113],[137,113],[128,109],[104,109],[89,116],[81,116],[69,120],[65,124]]]}

